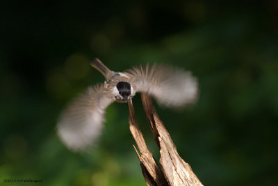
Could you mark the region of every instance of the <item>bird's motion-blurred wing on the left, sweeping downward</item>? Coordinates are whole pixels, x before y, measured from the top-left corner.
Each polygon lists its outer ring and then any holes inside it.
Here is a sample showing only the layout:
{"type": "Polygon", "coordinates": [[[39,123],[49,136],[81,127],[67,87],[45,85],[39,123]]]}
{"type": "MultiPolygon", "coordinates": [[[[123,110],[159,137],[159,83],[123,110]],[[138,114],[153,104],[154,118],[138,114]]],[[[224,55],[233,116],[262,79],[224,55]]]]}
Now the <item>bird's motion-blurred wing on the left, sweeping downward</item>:
{"type": "Polygon", "coordinates": [[[104,95],[104,85],[89,87],[63,111],[57,125],[61,141],[73,151],[85,150],[101,134],[106,107],[112,100],[104,95]]]}

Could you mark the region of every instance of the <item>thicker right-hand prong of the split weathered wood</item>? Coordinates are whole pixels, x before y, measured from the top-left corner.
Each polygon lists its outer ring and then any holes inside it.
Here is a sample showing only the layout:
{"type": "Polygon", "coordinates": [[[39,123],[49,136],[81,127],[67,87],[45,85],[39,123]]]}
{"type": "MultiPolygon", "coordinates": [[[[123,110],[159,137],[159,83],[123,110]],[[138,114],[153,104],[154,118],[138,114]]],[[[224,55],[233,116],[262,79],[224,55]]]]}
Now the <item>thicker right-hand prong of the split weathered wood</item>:
{"type": "Polygon", "coordinates": [[[190,165],[181,159],[177,153],[177,147],[174,145],[170,134],[167,132],[163,122],[158,117],[156,109],[152,104],[149,95],[142,93],[141,100],[147,120],[151,125],[156,144],[160,148],[161,168],[167,182],[170,185],[202,185],[190,165]]]}

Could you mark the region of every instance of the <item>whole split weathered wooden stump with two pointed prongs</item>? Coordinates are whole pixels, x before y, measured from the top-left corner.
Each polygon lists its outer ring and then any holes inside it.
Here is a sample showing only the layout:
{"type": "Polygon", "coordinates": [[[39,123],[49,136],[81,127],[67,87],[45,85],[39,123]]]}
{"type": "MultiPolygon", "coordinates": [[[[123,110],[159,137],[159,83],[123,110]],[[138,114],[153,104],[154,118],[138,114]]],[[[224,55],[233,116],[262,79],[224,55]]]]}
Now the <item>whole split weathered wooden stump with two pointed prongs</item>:
{"type": "Polygon", "coordinates": [[[132,101],[129,100],[129,127],[141,153],[139,155],[136,150],[147,185],[202,185],[197,176],[195,176],[195,173],[193,173],[190,165],[184,162],[177,153],[177,148],[170,134],[156,113],[152,99],[149,95],[142,93],[141,100],[145,115],[154,134],[154,139],[160,148],[162,168],[161,171],[152,153],[147,149],[136,120],[132,101]]]}

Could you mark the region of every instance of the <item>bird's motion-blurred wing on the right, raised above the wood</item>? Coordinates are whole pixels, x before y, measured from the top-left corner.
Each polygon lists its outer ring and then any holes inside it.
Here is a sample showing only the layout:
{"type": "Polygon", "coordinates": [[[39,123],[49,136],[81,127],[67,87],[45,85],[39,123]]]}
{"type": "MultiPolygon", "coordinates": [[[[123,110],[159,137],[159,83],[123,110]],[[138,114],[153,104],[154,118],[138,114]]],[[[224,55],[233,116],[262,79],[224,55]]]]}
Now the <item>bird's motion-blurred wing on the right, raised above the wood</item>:
{"type": "Polygon", "coordinates": [[[136,91],[149,93],[167,107],[183,107],[197,100],[197,78],[191,72],[167,65],[146,65],[125,72],[136,91]]]}

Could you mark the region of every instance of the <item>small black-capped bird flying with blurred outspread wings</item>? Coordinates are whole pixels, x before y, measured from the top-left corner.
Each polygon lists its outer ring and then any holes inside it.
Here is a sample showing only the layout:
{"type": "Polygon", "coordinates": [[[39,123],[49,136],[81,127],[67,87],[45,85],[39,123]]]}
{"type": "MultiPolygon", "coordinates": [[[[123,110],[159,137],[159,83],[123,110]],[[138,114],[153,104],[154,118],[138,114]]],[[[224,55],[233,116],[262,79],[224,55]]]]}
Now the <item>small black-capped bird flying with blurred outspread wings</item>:
{"type": "Polygon", "coordinates": [[[105,82],[89,86],[77,95],[62,111],[56,125],[58,137],[74,152],[97,144],[105,110],[112,102],[127,102],[136,93],[147,93],[158,104],[170,108],[184,107],[197,100],[197,77],[181,68],[154,63],[114,72],[97,58],[90,65],[104,75],[105,82]]]}

